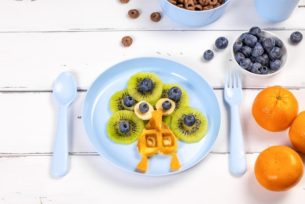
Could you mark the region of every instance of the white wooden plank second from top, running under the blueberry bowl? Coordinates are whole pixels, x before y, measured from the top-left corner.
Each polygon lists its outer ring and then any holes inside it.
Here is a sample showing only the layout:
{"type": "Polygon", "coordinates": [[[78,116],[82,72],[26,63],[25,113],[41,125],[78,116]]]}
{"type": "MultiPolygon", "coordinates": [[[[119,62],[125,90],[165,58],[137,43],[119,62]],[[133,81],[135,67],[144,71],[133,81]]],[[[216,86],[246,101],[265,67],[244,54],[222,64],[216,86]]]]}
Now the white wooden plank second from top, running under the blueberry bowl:
{"type": "MultiPolygon", "coordinates": [[[[52,90],[57,75],[71,72],[77,87],[86,90],[104,70],[121,61],[138,57],[160,57],[180,62],[200,74],[213,88],[223,88],[227,69],[236,69],[231,46],[243,31],[114,31],[0,33],[0,91],[52,90]],[[131,36],[130,47],[121,45],[123,36],[131,36]],[[225,36],[229,46],[217,50],[214,41],[225,36]],[[212,49],[214,59],[204,61],[203,53],[212,49]],[[14,76],[14,77],[8,77],[14,76]]],[[[244,88],[271,85],[305,87],[300,72],[302,42],[289,43],[292,31],[274,31],[286,43],[288,62],[285,70],[266,80],[243,76],[244,88]],[[288,80],[292,79],[292,80],[288,80]]]]}

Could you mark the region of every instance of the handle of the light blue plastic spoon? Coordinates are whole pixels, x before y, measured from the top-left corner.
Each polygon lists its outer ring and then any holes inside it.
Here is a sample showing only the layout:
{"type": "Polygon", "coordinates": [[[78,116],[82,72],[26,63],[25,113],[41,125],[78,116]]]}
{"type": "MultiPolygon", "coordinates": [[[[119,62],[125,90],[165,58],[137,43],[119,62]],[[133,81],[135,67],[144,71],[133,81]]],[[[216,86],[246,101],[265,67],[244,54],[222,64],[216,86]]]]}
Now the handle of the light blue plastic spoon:
{"type": "Polygon", "coordinates": [[[68,172],[68,107],[59,106],[57,132],[52,157],[52,173],[63,177],[68,172]]]}

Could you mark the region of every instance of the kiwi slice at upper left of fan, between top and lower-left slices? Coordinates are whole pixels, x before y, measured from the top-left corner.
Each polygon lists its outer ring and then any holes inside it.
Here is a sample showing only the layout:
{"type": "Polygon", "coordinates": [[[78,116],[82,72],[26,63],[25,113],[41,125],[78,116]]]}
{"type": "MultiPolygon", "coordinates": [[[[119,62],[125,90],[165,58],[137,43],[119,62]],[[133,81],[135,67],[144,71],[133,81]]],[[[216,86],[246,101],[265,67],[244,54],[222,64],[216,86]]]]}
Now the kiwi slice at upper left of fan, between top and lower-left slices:
{"type": "Polygon", "coordinates": [[[110,98],[110,110],[114,113],[119,110],[133,111],[134,105],[137,103],[128,94],[127,88],[121,91],[116,91],[110,98]]]}

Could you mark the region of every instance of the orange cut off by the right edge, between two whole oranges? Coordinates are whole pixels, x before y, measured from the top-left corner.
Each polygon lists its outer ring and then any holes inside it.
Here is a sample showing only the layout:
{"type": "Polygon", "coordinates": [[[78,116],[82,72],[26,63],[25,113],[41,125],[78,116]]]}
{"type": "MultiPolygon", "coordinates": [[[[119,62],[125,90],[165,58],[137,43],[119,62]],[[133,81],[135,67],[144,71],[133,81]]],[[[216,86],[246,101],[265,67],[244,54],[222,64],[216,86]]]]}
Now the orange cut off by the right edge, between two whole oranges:
{"type": "Polygon", "coordinates": [[[291,123],[288,135],[292,145],[305,154],[305,111],[299,113],[291,123]]]}

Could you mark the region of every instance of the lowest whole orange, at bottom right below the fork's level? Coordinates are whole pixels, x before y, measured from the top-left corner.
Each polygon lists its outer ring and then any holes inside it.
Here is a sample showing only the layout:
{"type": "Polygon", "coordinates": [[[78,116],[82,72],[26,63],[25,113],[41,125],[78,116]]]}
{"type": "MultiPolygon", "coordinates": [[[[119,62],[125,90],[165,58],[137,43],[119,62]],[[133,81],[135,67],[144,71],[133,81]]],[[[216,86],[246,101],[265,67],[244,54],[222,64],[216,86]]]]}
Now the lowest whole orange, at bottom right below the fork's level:
{"type": "Polygon", "coordinates": [[[300,182],[304,164],[290,147],[271,146],[262,151],[254,164],[256,180],[271,191],[285,191],[300,182]]]}

